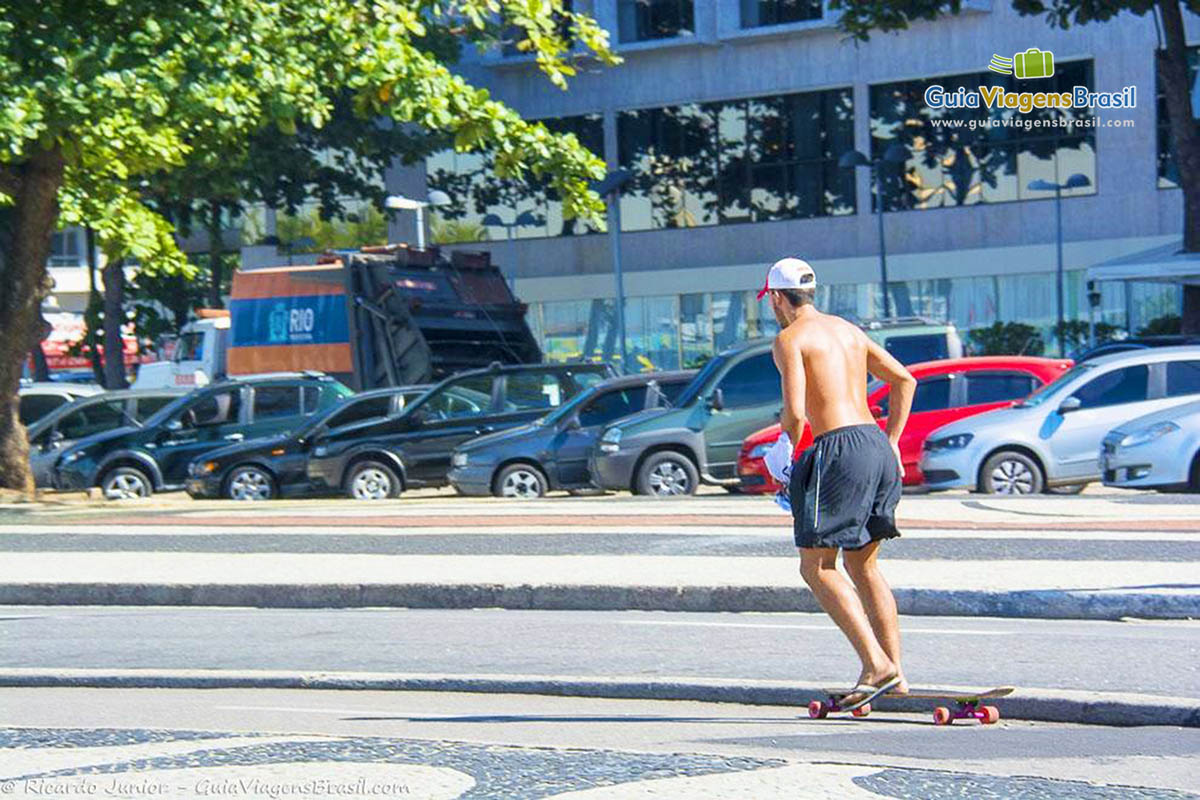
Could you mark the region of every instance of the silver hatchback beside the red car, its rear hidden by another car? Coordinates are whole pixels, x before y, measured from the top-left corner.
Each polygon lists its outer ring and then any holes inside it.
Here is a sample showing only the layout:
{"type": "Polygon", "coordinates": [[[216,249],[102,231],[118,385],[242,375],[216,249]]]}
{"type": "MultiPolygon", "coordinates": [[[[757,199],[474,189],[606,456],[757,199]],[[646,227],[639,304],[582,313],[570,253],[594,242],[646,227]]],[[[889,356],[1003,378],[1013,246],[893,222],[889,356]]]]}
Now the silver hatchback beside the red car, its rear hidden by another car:
{"type": "Polygon", "coordinates": [[[1036,494],[1100,479],[1112,428],[1200,399],[1200,347],[1132,350],[1075,365],[1013,408],[938,428],[920,469],[935,489],[1036,494]]]}

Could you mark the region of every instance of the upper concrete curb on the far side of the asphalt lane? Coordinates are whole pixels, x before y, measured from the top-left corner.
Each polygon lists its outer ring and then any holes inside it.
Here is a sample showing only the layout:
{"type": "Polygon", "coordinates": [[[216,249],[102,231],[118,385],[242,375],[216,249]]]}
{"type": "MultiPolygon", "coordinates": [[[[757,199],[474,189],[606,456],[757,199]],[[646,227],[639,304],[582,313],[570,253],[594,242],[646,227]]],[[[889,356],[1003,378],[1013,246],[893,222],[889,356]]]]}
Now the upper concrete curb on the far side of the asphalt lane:
{"type": "MultiPolygon", "coordinates": [[[[901,614],[1117,620],[1200,618],[1198,591],[895,589],[901,614]]],[[[802,587],[566,584],[0,584],[5,606],[506,608],[514,610],[818,612],[802,587]]]]}

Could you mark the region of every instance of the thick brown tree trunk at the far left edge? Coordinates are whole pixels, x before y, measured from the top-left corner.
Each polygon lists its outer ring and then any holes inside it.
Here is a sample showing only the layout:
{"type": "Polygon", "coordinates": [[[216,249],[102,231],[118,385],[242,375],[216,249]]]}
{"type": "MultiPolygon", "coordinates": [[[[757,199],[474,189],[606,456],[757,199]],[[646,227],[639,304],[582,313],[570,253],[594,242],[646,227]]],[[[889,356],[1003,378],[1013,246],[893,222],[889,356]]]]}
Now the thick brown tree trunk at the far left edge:
{"type": "Polygon", "coordinates": [[[41,343],[42,300],[49,294],[46,261],[59,216],[62,154],[37,150],[19,166],[5,166],[13,206],[0,230],[0,488],[34,492],[29,443],[20,423],[17,390],[29,351],[41,343]]]}

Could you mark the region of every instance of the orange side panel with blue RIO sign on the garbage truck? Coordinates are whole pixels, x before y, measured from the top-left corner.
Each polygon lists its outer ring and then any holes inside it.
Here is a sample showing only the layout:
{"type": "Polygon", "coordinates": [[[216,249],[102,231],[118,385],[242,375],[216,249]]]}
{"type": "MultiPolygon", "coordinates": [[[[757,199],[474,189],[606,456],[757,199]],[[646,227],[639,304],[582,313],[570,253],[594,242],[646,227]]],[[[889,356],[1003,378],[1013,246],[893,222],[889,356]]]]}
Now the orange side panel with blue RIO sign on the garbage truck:
{"type": "Polygon", "coordinates": [[[229,373],[352,372],[346,289],[328,267],[234,275],[229,373]]]}

